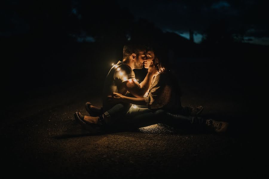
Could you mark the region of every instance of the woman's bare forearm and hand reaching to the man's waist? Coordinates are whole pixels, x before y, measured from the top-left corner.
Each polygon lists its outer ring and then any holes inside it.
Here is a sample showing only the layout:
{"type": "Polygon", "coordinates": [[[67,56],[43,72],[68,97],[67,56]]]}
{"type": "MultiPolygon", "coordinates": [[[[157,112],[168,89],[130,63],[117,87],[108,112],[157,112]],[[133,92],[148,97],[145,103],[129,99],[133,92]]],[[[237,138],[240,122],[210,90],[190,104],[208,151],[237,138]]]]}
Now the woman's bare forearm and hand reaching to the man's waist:
{"type": "Polygon", "coordinates": [[[130,104],[135,104],[135,105],[140,105],[140,106],[147,105],[144,98],[127,97],[127,96],[123,96],[122,94],[116,93],[116,92],[113,93],[113,96],[108,96],[108,101],[130,103],[130,104]]]}

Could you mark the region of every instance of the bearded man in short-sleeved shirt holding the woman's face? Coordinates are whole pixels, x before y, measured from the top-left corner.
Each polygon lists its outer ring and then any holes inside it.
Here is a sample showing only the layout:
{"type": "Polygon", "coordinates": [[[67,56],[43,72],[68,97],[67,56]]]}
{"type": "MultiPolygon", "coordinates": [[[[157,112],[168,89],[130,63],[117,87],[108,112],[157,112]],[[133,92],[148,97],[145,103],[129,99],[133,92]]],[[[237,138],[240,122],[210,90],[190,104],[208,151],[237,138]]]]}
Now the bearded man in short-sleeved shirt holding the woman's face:
{"type": "Polygon", "coordinates": [[[145,79],[139,84],[135,79],[133,69],[142,69],[144,61],[146,61],[145,47],[125,45],[123,47],[123,61],[118,61],[110,69],[105,80],[102,97],[103,114],[95,117],[94,112],[98,113],[101,109],[92,108],[90,103],[86,103],[85,107],[91,116],[84,116],[79,112],[75,112],[76,120],[82,126],[88,128],[89,126],[86,123],[99,125],[113,124],[114,121],[111,120],[111,117],[117,119],[117,115],[126,114],[131,107],[130,104],[108,103],[107,96],[113,94],[113,92],[126,95],[128,91],[131,95],[142,98],[152,84],[152,79],[156,72],[154,67],[149,67],[145,79]]]}

